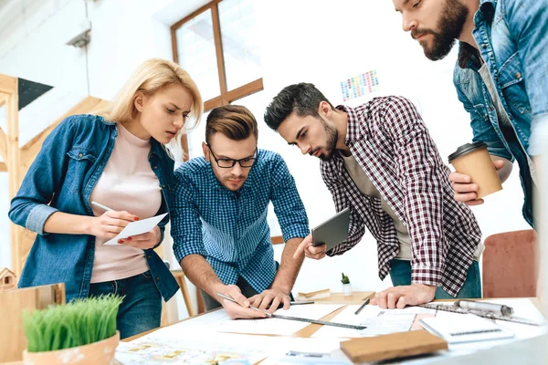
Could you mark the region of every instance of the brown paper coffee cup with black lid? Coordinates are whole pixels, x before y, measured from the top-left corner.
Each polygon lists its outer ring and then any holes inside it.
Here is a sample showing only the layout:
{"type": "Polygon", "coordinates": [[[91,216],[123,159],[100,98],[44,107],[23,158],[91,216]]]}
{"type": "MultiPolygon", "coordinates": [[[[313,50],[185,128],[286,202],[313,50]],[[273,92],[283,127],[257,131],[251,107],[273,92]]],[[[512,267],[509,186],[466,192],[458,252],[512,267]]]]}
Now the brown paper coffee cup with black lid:
{"type": "Polygon", "coordinates": [[[469,175],[478,185],[478,199],[502,190],[501,179],[483,142],[467,143],[449,155],[449,163],[459,173],[469,175]]]}

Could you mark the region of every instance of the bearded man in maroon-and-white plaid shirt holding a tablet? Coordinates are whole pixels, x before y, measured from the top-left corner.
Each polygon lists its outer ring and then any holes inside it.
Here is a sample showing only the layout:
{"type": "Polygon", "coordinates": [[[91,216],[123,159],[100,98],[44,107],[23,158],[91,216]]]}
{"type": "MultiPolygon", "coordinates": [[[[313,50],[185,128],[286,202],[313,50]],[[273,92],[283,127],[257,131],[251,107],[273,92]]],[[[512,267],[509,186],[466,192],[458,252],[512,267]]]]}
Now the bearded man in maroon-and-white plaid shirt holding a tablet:
{"type": "Polygon", "coordinates": [[[337,212],[350,207],[348,239],[325,252],[307,236],[293,255],[321,259],[358,244],[365,227],[377,241],[379,276],[395,287],[373,304],[404,308],[436,298],[481,297],[481,233],[464,203],[453,200],[449,170],[409,100],[375,98],[332,107],[312,84],[282,89],[265,121],[290,145],[321,159],[337,212]]]}

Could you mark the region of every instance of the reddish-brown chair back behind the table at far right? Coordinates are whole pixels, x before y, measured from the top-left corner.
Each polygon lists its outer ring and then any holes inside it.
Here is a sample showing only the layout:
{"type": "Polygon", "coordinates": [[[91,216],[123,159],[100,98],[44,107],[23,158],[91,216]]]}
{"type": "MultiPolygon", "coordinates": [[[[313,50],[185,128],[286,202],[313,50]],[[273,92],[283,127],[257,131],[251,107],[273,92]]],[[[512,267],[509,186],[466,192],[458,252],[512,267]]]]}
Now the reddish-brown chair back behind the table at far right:
{"type": "Polygon", "coordinates": [[[483,252],[483,297],[536,297],[537,236],[530,230],[490,235],[483,252]]]}

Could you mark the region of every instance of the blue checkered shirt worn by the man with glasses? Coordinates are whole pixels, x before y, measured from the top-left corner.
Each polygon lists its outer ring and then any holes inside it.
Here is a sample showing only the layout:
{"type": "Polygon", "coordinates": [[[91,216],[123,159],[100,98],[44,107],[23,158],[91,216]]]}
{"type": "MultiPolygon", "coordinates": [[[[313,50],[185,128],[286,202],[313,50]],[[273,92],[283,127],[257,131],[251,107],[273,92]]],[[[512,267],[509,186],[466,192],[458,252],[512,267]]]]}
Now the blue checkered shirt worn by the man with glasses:
{"type": "MultiPolygon", "coordinates": [[[[216,162],[213,162],[216,163],[216,162]]],[[[304,205],[286,163],[279,154],[258,150],[242,188],[233,193],[218,182],[204,157],[175,171],[171,234],[179,262],[203,255],[226,285],[242,276],[258,293],[276,276],[267,223],[269,202],[284,241],[309,235],[304,205]]]]}

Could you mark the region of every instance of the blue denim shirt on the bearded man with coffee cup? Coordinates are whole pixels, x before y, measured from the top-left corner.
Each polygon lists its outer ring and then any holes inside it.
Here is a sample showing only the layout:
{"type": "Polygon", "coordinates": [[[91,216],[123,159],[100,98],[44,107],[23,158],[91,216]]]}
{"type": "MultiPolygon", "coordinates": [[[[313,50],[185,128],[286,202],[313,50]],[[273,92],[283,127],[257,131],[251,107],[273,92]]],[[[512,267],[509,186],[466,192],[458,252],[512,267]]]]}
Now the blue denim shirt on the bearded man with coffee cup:
{"type": "Polygon", "coordinates": [[[528,157],[539,153],[534,131],[548,122],[548,0],[481,0],[474,16],[476,48],[460,43],[454,83],[469,112],[473,141],[520,166],[523,217],[533,224],[528,157]],[[506,138],[489,90],[479,76],[481,57],[517,138],[506,138]],[[529,156],[528,156],[529,155],[529,156]]]}

